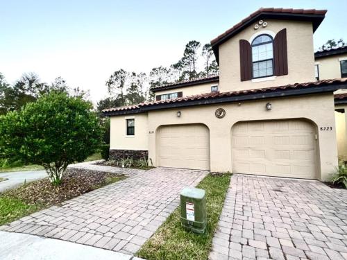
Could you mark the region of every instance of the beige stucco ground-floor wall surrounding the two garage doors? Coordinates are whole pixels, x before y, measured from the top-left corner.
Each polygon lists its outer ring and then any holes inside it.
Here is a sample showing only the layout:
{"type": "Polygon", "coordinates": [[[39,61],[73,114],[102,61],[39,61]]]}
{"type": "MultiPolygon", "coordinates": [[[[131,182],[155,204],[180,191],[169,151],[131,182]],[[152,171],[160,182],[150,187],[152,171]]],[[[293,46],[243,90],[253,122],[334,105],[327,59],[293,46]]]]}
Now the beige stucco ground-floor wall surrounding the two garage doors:
{"type": "Polygon", "coordinates": [[[337,166],[336,132],[321,131],[321,126],[334,126],[334,100],[332,94],[301,96],[296,98],[275,98],[262,101],[247,101],[241,105],[226,103],[201,105],[169,110],[155,110],[147,114],[135,114],[135,132],[142,132],[135,138],[125,137],[125,116],[111,118],[111,149],[147,149],[153,165],[157,160],[157,130],[160,125],[203,123],[210,130],[210,169],[211,171],[232,172],[232,125],[239,121],[307,119],[316,128],[317,179],[328,180],[337,166]],[[265,109],[271,102],[272,110],[265,109]],[[218,119],[214,112],[223,107],[226,116],[218,119]],[[181,116],[176,112],[180,110],[181,116]],[[319,113],[317,113],[319,111],[319,113]],[[139,120],[136,120],[139,119],[139,120]],[[142,129],[143,128],[143,129],[142,129]],[[137,142],[139,142],[137,144],[137,142]],[[147,142],[147,144],[146,144],[147,142]]]}

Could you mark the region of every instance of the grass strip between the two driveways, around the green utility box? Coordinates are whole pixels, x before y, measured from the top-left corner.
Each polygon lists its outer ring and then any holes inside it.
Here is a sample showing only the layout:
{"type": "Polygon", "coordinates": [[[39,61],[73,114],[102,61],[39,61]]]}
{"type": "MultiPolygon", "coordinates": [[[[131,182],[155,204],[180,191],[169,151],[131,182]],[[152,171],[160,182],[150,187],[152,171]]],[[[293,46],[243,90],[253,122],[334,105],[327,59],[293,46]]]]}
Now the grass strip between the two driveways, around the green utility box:
{"type": "Polygon", "coordinates": [[[180,225],[178,207],[137,256],[144,259],[208,259],[229,182],[230,174],[208,175],[197,186],[206,191],[208,225],[205,234],[186,232],[180,225]]]}

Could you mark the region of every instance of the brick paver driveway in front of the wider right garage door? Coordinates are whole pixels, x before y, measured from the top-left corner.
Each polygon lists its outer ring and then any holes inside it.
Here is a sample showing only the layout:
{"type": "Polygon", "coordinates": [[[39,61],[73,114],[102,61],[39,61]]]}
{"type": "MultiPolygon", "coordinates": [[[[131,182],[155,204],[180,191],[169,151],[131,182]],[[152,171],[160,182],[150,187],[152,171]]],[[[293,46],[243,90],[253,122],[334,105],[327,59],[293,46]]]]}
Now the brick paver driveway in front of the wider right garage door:
{"type": "Polygon", "coordinates": [[[347,191],[234,175],[210,259],[347,259],[347,191]]]}

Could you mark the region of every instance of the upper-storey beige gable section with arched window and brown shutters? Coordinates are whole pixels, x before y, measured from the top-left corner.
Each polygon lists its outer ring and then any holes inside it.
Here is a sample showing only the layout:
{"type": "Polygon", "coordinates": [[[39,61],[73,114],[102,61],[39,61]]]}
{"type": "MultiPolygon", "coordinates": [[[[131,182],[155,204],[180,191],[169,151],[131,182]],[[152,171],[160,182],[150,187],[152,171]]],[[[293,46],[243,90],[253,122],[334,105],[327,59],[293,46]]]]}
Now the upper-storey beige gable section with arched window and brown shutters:
{"type": "Polygon", "coordinates": [[[212,40],[220,91],[314,81],[313,33],[325,12],[260,8],[212,40]]]}

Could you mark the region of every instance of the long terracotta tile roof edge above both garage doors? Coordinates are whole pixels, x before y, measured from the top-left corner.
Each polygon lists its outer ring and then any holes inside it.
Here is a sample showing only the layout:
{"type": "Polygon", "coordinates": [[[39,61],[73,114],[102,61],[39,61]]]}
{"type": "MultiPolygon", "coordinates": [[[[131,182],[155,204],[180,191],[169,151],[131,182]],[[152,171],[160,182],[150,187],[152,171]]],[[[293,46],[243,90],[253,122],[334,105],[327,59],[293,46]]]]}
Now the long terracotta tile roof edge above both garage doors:
{"type": "Polygon", "coordinates": [[[144,102],[144,103],[139,103],[137,105],[128,105],[125,107],[113,107],[113,108],[105,109],[103,110],[103,112],[108,113],[108,112],[118,112],[118,111],[124,111],[124,110],[137,110],[142,107],[151,107],[155,105],[165,105],[170,103],[184,103],[187,101],[199,101],[199,100],[204,101],[204,100],[209,100],[213,98],[223,98],[228,96],[244,96],[247,94],[276,92],[280,90],[323,87],[323,86],[330,86],[330,85],[339,85],[341,83],[347,83],[347,78],[319,80],[319,81],[315,81],[311,83],[295,83],[291,85],[284,85],[284,86],[278,86],[278,87],[266,87],[262,89],[248,89],[248,90],[241,90],[241,91],[234,91],[234,92],[221,92],[221,93],[214,92],[214,93],[205,93],[205,94],[198,94],[198,95],[192,95],[192,96],[183,96],[182,98],[167,99],[165,101],[144,102]]]}

